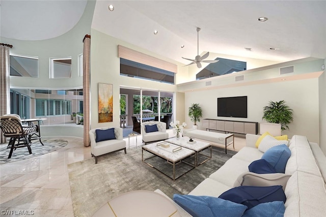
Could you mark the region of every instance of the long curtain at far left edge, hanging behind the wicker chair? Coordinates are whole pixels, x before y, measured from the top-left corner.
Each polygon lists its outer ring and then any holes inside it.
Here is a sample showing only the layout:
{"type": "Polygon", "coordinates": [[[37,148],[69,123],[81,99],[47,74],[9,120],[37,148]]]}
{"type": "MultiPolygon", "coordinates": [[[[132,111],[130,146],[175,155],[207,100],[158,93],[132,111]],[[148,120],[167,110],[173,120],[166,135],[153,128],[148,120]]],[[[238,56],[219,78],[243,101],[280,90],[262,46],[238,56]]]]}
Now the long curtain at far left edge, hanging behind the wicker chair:
{"type": "MultiPolygon", "coordinates": [[[[12,46],[11,46],[12,47],[12,46]]],[[[10,84],[9,84],[9,47],[0,45],[0,116],[10,113],[10,84]]],[[[1,133],[0,143],[6,138],[1,133]]]]}

